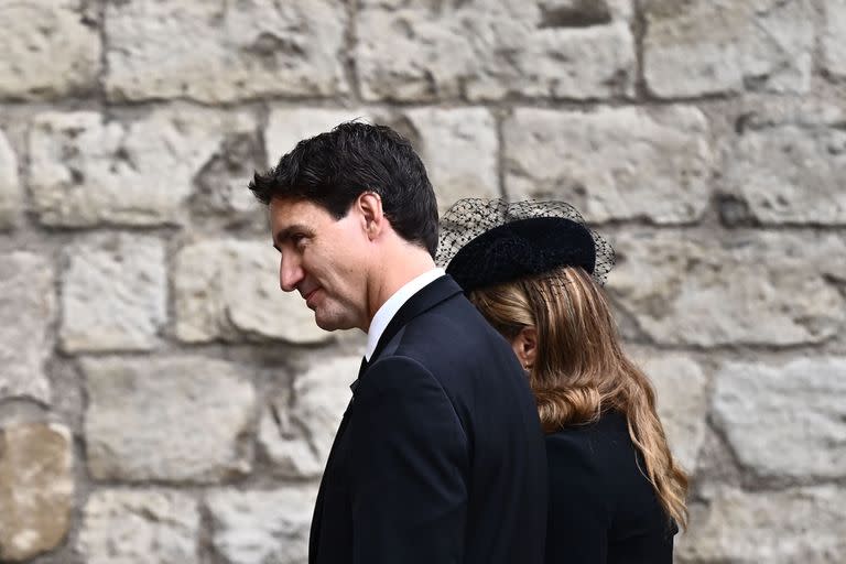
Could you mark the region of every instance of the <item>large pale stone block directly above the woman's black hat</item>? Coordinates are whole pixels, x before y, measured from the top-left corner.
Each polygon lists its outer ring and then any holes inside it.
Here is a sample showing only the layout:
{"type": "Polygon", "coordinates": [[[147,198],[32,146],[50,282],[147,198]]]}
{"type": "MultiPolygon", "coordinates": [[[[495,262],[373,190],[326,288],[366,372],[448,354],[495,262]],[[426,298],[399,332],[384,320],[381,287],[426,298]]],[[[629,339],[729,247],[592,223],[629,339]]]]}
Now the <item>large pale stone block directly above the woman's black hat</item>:
{"type": "Polygon", "coordinates": [[[692,107],[518,109],[505,127],[506,193],[563,198],[588,220],[691,221],[708,204],[708,126],[692,107]]]}

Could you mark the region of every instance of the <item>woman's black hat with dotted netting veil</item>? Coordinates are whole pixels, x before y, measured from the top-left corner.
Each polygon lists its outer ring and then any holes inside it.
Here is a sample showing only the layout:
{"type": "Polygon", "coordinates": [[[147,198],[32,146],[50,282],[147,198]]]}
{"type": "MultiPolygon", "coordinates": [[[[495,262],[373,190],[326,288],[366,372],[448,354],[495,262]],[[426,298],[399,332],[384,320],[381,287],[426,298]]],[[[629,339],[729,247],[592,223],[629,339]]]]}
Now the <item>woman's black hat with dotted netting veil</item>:
{"type": "Polygon", "coordinates": [[[465,198],[441,219],[436,262],[465,293],[561,267],[604,284],[614,249],[564,202],[465,198]]]}

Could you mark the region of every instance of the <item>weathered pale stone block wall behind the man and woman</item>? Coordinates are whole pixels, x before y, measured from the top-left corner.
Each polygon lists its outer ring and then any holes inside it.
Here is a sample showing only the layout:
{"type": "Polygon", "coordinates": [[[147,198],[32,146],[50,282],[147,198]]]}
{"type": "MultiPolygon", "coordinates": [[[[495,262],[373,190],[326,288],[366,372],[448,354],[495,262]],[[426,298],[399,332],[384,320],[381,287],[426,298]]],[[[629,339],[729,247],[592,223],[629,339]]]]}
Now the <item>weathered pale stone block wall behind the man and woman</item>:
{"type": "Polygon", "coordinates": [[[0,560],[305,562],[360,334],[253,169],[398,128],[554,196],[693,475],[680,563],[846,562],[846,0],[0,0],[0,560]]]}

